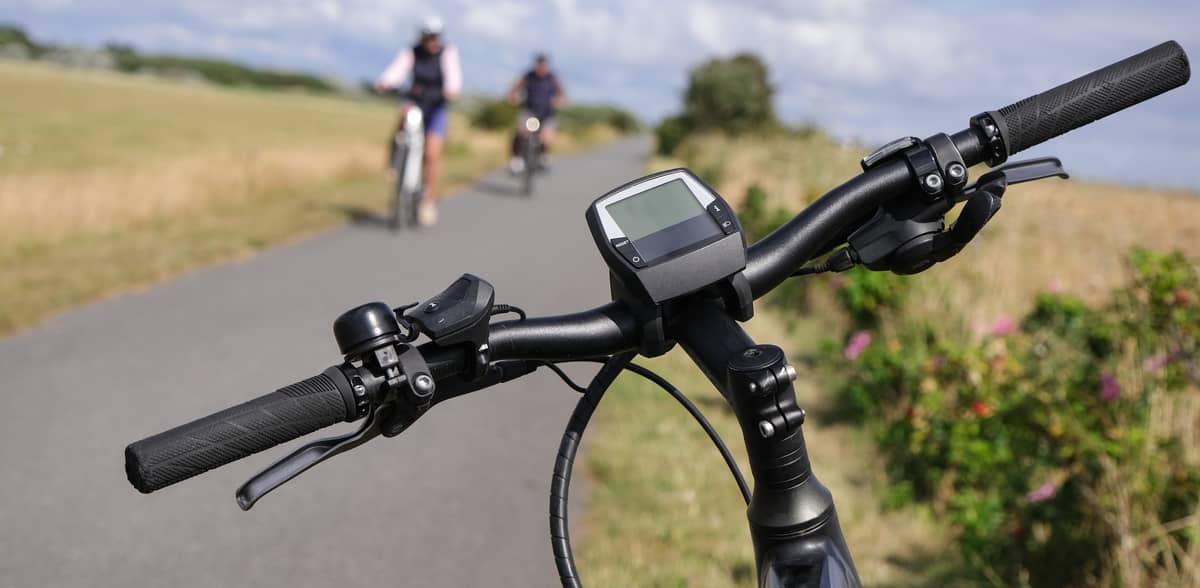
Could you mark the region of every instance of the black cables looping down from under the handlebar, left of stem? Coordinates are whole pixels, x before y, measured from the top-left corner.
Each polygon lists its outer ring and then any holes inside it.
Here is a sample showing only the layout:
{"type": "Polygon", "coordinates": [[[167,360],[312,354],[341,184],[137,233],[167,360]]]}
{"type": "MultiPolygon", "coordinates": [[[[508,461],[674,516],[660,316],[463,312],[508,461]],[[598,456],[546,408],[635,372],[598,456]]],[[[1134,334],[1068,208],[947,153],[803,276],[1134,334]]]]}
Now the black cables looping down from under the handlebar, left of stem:
{"type": "Polygon", "coordinates": [[[588,361],[604,364],[604,367],[596,372],[592,382],[584,389],[576,384],[562,368],[548,361],[538,361],[540,365],[550,367],[559,378],[566,383],[572,390],[582,391],[583,396],[580,397],[578,403],[575,404],[575,410],[571,413],[571,418],[566,424],[566,430],[563,431],[563,439],[558,446],[558,458],[554,460],[554,476],[550,486],[550,534],[551,544],[554,550],[554,566],[558,568],[559,580],[563,582],[564,587],[570,588],[582,588],[580,582],[578,571],[575,566],[575,553],[571,550],[571,538],[570,538],[570,526],[568,524],[568,492],[571,486],[571,472],[575,467],[575,455],[578,452],[580,443],[583,439],[583,431],[587,428],[588,422],[592,420],[592,414],[600,406],[600,400],[604,398],[604,394],[612,385],[613,380],[622,371],[629,371],[646,378],[647,380],[656,384],[662,390],[666,390],[684,409],[688,414],[696,420],[697,424],[708,434],[708,438],[720,451],[721,458],[725,460],[725,464],[730,468],[730,473],[733,475],[734,481],[738,484],[738,490],[742,492],[742,498],[746,504],[750,504],[750,487],[746,485],[745,476],[742,475],[742,469],[738,468],[737,461],[733,458],[733,454],[725,445],[721,436],[713,428],[713,425],[704,418],[703,413],[691,402],[678,388],[667,382],[666,378],[659,376],[654,371],[634,364],[632,359],[637,355],[636,352],[626,352],[619,355],[612,355],[606,359],[580,359],[572,361],[588,361]]]}

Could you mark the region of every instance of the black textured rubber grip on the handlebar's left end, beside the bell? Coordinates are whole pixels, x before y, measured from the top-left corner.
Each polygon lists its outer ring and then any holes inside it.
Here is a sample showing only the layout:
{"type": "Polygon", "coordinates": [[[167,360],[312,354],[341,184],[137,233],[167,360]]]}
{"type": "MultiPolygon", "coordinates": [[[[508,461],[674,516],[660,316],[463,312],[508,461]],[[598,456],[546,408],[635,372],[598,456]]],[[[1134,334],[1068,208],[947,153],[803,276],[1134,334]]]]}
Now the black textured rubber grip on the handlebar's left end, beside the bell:
{"type": "Polygon", "coordinates": [[[125,448],[130,484],[149,494],[318,428],[353,420],[354,394],[337,367],[125,448]]]}

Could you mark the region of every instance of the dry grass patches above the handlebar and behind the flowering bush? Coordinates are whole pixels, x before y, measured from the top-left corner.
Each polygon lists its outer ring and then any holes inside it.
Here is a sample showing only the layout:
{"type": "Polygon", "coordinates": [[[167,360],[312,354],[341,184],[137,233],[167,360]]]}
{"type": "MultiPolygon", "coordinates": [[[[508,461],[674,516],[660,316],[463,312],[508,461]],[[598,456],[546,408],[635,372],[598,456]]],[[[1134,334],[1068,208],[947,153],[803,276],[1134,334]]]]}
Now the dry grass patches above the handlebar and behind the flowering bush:
{"type": "MultiPolygon", "coordinates": [[[[859,173],[865,152],[820,133],[714,136],[688,143],[682,158],[701,173],[715,170],[716,187],[731,202],[758,184],[773,205],[799,210],[859,173]]],[[[1069,170],[1070,158],[1064,161],[1069,170]]],[[[922,289],[916,298],[925,301],[914,310],[935,318],[955,308],[974,328],[1000,314],[1019,316],[1037,292],[1094,300],[1128,277],[1124,256],[1130,247],[1180,248],[1200,257],[1196,196],[1079,180],[1013,186],[995,222],[964,254],[913,278],[922,289]]]]}

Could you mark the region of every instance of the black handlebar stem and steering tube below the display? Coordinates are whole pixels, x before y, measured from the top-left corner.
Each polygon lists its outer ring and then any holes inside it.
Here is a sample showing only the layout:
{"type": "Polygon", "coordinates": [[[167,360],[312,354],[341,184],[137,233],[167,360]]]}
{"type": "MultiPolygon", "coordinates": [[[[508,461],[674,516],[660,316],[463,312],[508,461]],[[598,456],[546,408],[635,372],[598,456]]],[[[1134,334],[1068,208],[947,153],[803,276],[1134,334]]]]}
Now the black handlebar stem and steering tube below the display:
{"type": "Polygon", "coordinates": [[[860,586],[833,494],[812,474],[796,371],[782,349],[760,346],[710,305],[688,312],[679,343],[732,406],[754,494],[746,509],[761,586],[860,586]]]}

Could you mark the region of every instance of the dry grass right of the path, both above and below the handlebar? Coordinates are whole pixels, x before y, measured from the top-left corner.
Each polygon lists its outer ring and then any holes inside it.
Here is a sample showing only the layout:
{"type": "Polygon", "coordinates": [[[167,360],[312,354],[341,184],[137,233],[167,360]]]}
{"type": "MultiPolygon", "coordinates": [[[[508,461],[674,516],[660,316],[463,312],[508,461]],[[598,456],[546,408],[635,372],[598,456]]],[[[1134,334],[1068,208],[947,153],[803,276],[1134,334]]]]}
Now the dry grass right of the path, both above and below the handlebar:
{"type": "MultiPolygon", "coordinates": [[[[679,160],[652,167],[686,163],[734,203],[758,184],[774,205],[793,210],[859,173],[865,152],[820,133],[698,137],[680,149],[679,160]]],[[[1064,160],[1069,169],[1070,160],[1064,160]]],[[[1075,180],[1015,186],[996,221],[964,254],[911,278],[912,299],[924,301],[914,312],[928,320],[958,317],[952,320],[961,324],[954,328],[970,335],[1001,314],[1020,316],[1038,290],[1096,298],[1126,277],[1122,259],[1133,245],[1200,256],[1200,198],[1075,180]]],[[[803,317],[758,305],[748,330],[793,358],[810,355],[844,330],[821,292],[814,290],[811,312],[803,317]]],[[[653,365],[696,400],[736,455],[744,454],[732,413],[682,352],[653,365]]],[[[820,370],[802,370],[797,398],[811,415],[805,432],[814,469],[836,497],[863,581],[973,586],[958,577],[953,538],[931,514],[882,508],[884,480],[874,439],[822,419],[822,408],[832,402],[822,378],[820,370]]],[[[596,414],[584,442],[596,484],[584,514],[581,574],[598,586],[755,586],[740,497],[686,414],[632,377],[618,380],[596,414]]]]}

